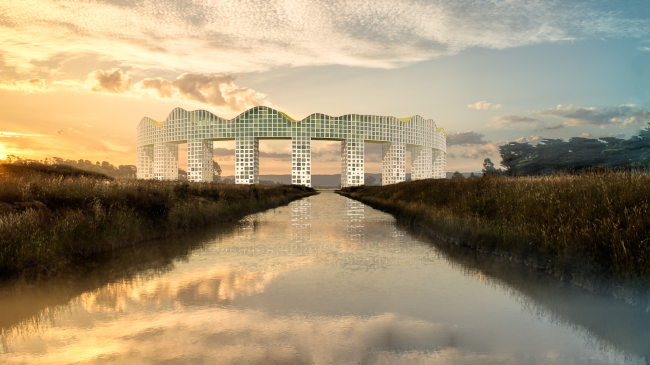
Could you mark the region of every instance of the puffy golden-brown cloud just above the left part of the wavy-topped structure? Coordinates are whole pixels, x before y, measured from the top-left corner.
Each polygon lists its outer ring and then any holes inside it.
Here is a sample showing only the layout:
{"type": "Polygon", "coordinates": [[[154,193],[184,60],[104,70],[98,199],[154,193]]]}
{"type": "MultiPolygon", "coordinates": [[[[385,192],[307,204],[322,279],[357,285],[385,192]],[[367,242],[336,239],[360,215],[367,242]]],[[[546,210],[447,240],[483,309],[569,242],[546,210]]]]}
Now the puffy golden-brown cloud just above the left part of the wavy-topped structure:
{"type": "Polygon", "coordinates": [[[173,81],[160,77],[140,81],[136,87],[163,99],[191,100],[230,110],[267,104],[266,95],[234,84],[239,75],[184,73],[173,81]]]}

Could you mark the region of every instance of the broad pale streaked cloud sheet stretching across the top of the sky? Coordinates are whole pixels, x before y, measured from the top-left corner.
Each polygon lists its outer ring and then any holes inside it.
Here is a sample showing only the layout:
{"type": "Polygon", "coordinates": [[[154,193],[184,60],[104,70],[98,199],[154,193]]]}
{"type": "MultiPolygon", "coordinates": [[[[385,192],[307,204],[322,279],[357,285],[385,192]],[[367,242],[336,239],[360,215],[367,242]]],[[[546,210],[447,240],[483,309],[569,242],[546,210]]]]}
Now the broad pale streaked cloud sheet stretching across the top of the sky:
{"type": "Polygon", "coordinates": [[[101,61],[179,73],[394,68],[473,47],[647,37],[650,20],[633,15],[644,5],[613,12],[589,2],[527,0],[141,0],[131,6],[5,0],[0,49],[20,72],[49,67],[46,61],[89,45],[101,61]]]}

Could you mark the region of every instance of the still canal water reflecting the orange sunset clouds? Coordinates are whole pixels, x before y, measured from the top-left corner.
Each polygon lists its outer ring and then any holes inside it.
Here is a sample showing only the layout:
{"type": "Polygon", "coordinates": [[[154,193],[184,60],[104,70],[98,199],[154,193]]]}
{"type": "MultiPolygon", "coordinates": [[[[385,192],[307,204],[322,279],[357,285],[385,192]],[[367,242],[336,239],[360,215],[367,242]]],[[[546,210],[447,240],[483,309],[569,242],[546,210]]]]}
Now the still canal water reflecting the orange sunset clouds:
{"type": "Polygon", "coordinates": [[[650,308],[322,193],[0,293],[0,363],[645,364],[650,308]]]}

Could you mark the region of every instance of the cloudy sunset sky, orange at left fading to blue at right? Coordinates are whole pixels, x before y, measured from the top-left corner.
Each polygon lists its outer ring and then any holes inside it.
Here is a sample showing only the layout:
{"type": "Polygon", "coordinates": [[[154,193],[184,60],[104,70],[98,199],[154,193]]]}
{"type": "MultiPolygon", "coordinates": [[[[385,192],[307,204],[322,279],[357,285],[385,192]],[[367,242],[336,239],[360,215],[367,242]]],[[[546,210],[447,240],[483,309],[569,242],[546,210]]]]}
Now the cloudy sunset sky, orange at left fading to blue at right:
{"type": "MultiPolygon", "coordinates": [[[[433,119],[452,172],[498,165],[510,141],[629,138],[650,122],[650,6],[0,2],[0,159],[135,164],[145,116],[182,107],[232,118],[256,105],[297,119],[433,119]]],[[[288,141],[260,142],[260,174],[290,174],[289,152],[288,141]]],[[[314,141],[312,152],[313,174],[340,172],[340,142],[314,141]]],[[[366,152],[366,172],[380,173],[377,146],[366,152]]],[[[215,159],[233,175],[234,142],[215,143],[215,159]]]]}

